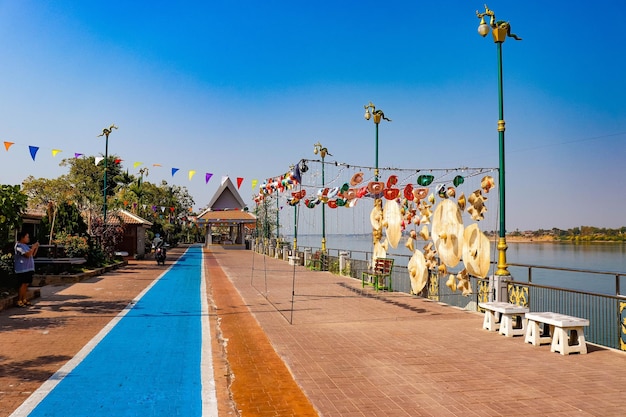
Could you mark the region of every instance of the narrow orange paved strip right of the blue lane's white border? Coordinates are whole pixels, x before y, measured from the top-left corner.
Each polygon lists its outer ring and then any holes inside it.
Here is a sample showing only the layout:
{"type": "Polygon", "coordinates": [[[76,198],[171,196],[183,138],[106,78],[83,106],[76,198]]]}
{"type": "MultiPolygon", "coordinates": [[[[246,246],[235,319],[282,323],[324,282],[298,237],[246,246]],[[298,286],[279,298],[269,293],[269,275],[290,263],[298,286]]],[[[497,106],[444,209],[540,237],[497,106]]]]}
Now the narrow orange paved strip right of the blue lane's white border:
{"type": "Polygon", "coordinates": [[[225,359],[234,375],[231,395],[241,415],[317,416],[209,251],[205,252],[205,268],[219,317],[220,337],[226,340],[225,359]]]}

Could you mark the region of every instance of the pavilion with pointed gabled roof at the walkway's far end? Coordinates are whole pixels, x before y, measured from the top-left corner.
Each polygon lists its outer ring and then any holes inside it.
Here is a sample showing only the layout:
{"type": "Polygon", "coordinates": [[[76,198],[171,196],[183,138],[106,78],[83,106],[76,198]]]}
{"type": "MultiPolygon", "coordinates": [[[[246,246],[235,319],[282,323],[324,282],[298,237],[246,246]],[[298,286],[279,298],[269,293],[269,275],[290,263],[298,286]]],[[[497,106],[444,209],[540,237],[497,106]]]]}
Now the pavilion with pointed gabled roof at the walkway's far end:
{"type": "Polygon", "coordinates": [[[215,192],[208,208],[198,215],[198,226],[206,228],[207,245],[244,245],[249,230],[256,226],[256,216],[246,204],[230,178],[215,192]]]}

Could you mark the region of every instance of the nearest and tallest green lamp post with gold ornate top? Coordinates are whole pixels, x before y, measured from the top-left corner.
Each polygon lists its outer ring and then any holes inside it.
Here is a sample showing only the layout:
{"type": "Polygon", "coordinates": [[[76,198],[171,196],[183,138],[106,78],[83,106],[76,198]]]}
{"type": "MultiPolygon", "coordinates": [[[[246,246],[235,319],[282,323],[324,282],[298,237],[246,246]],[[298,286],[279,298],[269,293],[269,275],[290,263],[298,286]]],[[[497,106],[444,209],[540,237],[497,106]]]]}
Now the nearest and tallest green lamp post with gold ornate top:
{"type": "Polygon", "coordinates": [[[500,184],[500,237],[498,239],[498,269],[496,275],[508,276],[510,275],[506,263],[506,207],[505,207],[505,188],[504,188],[504,101],[502,92],[502,44],[506,40],[506,37],[511,37],[516,41],[521,41],[522,38],[518,37],[514,33],[511,33],[511,25],[504,20],[496,21],[495,13],[490,10],[485,4],[485,12],[479,13],[476,10],[476,16],[480,19],[480,25],[478,26],[478,34],[482,37],[487,36],[489,31],[493,35],[493,41],[496,43],[498,51],[498,102],[499,102],[499,119],[498,119],[498,136],[500,144],[500,165],[499,165],[499,184],[500,184]],[[489,16],[489,24],[485,22],[485,16],[489,16]]]}

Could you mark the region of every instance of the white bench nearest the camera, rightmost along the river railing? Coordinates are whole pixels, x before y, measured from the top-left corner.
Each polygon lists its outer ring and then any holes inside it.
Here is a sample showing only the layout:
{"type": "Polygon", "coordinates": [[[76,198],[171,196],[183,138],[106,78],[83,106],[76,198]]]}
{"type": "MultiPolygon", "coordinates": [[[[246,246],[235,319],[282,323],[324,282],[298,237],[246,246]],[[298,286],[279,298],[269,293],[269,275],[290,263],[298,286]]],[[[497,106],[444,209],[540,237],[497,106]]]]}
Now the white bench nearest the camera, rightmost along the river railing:
{"type": "Polygon", "coordinates": [[[551,343],[550,351],[561,355],[587,353],[583,328],[589,326],[589,320],[551,312],[527,313],[526,319],[526,343],[534,346],[551,343]]]}

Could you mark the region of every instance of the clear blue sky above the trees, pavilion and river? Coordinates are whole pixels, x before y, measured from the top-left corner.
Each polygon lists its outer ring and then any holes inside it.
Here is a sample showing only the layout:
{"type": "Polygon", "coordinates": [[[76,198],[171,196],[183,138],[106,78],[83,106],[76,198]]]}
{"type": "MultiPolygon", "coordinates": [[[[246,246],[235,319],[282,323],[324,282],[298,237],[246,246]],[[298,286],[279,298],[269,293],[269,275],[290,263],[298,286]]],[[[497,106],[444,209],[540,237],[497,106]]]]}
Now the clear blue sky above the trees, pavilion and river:
{"type": "MultiPolygon", "coordinates": [[[[626,225],[626,3],[492,1],[504,50],[507,229],[626,225]]],[[[313,144],[372,165],[497,167],[482,1],[0,1],[0,183],[109,152],[188,187],[279,175],[313,144]],[[0,144],[1,145],[1,144],[0,144]],[[28,145],[40,147],[36,161],[28,145]],[[51,150],[62,153],[53,158],[51,150]],[[170,168],[181,171],[172,179],[170,168]],[[188,170],[198,173],[189,181],[188,170]],[[205,184],[205,172],[213,173],[205,184]]]]}

